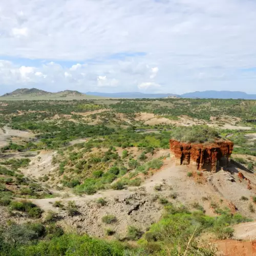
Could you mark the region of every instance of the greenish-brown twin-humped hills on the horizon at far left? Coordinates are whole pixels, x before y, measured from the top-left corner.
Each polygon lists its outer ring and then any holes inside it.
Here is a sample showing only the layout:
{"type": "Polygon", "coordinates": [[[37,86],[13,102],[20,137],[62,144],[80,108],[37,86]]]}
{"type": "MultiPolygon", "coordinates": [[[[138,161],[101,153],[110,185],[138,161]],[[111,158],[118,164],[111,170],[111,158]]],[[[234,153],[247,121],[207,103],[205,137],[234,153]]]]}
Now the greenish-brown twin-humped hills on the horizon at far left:
{"type": "Polygon", "coordinates": [[[67,97],[67,96],[78,96],[78,95],[83,95],[82,93],[78,91],[71,91],[71,90],[66,90],[66,91],[61,91],[57,93],[50,93],[44,90],[39,90],[36,88],[32,89],[17,89],[11,93],[6,93],[1,97],[20,97],[20,96],[29,96],[29,97],[36,97],[36,96],[47,96],[47,95],[53,95],[57,97],[67,97]]]}

